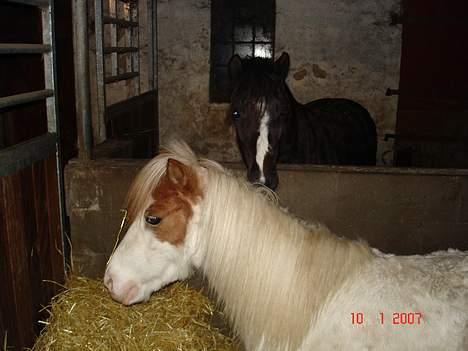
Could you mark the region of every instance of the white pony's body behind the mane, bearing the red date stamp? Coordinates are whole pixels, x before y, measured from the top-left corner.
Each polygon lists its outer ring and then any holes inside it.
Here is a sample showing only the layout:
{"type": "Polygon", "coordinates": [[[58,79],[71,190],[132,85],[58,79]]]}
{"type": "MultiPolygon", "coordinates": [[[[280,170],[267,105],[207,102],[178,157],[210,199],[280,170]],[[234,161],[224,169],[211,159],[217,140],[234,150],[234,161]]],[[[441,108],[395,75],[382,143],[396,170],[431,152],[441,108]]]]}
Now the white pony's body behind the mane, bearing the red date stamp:
{"type": "Polygon", "coordinates": [[[468,252],[378,256],[322,310],[301,350],[468,350],[468,252]]]}

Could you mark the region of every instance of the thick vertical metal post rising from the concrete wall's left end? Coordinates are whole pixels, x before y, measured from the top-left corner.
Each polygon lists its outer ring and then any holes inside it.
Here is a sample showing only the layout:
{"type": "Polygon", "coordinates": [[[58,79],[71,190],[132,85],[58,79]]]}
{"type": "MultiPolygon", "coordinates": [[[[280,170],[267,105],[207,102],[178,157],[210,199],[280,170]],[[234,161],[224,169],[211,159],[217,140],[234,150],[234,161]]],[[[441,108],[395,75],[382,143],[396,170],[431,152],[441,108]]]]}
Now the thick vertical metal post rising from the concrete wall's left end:
{"type": "Polygon", "coordinates": [[[87,0],[75,0],[73,8],[76,112],[79,157],[91,159],[93,148],[89,89],[89,52],[87,0]]]}

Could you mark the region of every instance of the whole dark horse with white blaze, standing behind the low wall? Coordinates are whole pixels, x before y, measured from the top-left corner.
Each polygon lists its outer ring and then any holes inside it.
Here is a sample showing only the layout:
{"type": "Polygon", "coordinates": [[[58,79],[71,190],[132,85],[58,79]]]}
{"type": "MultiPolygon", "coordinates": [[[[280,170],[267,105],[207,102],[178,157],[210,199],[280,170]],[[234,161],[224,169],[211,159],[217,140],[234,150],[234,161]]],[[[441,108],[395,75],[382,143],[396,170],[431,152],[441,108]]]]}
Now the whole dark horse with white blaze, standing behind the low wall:
{"type": "Polygon", "coordinates": [[[231,113],[250,182],[275,189],[276,162],[375,165],[377,137],[369,112],[347,99],[296,101],[285,79],[289,55],[229,62],[231,113]]]}

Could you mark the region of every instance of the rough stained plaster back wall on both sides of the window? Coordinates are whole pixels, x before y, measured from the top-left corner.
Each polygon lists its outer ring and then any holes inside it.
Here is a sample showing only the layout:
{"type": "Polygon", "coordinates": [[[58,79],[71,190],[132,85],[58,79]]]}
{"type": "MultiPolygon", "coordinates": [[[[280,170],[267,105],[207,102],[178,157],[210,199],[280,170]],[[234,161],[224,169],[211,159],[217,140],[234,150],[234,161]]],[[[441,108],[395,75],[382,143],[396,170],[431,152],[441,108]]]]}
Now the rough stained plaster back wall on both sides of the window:
{"type": "MultiPolygon", "coordinates": [[[[390,26],[399,0],[277,0],[276,56],[288,51],[288,83],[300,102],[347,97],[377,124],[378,159],[391,162],[384,134],[395,127],[401,27],[390,26]]],[[[159,96],[162,143],[182,137],[207,157],[239,160],[227,105],[209,104],[209,1],[159,0],[159,96]]]]}

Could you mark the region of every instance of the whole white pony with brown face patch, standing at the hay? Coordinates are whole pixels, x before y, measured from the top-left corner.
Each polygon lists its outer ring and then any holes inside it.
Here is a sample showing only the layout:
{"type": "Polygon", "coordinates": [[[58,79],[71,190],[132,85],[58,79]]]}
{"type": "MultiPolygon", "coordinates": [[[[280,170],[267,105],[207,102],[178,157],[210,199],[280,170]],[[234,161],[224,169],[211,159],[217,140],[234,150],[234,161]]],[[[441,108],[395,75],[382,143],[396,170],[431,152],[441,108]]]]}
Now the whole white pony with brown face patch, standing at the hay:
{"type": "Polygon", "coordinates": [[[128,195],[104,277],[126,305],[200,270],[247,350],[468,350],[468,252],[382,254],[180,142],[128,195]]]}

